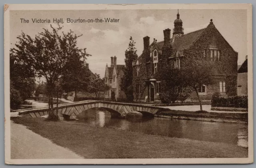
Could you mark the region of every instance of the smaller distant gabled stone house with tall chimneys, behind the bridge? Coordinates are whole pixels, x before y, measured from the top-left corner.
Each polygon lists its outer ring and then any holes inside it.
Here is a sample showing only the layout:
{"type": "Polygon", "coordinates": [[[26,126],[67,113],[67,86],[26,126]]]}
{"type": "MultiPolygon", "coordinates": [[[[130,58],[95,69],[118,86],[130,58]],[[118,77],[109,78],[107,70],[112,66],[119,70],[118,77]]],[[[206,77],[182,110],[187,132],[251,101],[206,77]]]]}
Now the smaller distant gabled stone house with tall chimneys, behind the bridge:
{"type": "Polygon", "coordinates": [[[105,98],[116,101],[126,98],[124,92],[120,88],[121,80],[124,76],[124,67],[125,65],[116,64],[116,56],[111,57],[111,65],[109,67],[107,64],[105,70],[104,81],[105,85],[107,86],[107,89],[105,89],[105,98]]]}

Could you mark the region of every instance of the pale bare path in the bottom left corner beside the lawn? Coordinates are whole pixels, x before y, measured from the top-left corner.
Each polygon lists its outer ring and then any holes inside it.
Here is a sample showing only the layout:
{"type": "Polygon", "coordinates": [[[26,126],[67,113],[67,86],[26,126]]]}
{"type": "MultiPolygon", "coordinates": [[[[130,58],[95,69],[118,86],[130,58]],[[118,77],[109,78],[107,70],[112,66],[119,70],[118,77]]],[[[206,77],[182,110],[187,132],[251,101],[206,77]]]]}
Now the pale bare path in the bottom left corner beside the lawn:
{"type": "Polygon", "coordinates": [[[65,159],[82,156],[52,143],[24,125],[11,121],[11,159],[65,159]]]}

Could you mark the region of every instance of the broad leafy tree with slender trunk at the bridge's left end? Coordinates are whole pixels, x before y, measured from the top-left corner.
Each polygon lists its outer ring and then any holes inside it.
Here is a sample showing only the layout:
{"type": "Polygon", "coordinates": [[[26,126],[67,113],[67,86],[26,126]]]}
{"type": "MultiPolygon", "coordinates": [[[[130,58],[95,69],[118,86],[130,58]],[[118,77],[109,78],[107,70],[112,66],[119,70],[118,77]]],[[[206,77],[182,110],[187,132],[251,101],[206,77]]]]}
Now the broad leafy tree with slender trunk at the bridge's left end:
{"type": "Polygon", "coordinates": [[[58,119],[53,111],[53,92],[56,81],[63,72],[66,72],[66,63],[73,55],[79,59],[84,59],[88,54],[86,48],[80,49],[77,45],[77,39],[81,35],[76,35],[72,30],[68,33],[60,32],[62,27],[58,25],[54,28],[50,25],[50,30],[43,29],[34,38],[22,32],[17,37],[18,42],[13,48],[13,54],[17,57],[27,69],[38,77],[46,79],[48,98],[49,98],[49,117],[48,119],[58,119]]]}

